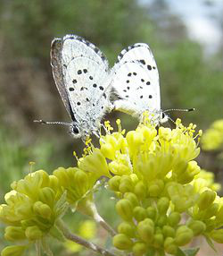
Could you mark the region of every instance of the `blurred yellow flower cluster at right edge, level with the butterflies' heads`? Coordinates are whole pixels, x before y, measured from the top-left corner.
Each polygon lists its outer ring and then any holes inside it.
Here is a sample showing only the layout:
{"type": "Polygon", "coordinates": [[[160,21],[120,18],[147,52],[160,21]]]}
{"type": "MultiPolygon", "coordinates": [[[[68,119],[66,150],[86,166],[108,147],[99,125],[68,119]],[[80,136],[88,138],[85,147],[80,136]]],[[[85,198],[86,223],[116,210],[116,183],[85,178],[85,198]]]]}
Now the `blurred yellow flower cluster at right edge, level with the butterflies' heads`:
{"type": "Polygon", "coordinates": [[[201,142],[204,150],[223,150],[223,119],[211,124],[211,127],[203,133],[201,142]]]}

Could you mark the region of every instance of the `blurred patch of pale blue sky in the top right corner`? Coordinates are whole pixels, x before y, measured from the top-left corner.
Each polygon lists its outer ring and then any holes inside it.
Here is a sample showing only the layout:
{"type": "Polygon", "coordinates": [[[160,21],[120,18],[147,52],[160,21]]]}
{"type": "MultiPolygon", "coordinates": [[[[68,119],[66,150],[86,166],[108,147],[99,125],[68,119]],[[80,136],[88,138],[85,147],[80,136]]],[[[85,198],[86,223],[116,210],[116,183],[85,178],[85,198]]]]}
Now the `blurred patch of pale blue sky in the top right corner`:
{"type": "MultiPolygon", "coordinates": [[[[150,4],[153,1],[156,0],[140,2],[150,4]]],[[[222,0],[166,0],[165,2],[169,4],[171,12],[177,13],[184,21],[189,37],[201,43],[205,54],[214,54],[218,50],[223,38],[222,0]]]]}

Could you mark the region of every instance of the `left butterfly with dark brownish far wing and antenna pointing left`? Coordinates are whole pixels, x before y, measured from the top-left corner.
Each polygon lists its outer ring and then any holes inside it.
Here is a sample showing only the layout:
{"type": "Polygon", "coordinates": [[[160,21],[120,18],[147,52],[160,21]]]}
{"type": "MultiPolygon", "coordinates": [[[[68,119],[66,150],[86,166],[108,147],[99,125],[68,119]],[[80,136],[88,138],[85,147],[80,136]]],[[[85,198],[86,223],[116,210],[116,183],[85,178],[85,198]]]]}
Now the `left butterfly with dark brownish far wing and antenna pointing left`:
{"type": "Polygon", "coordinates": [[[76,35],[54,38],[51,45],[54,81],[71,123],[36,121],[41,124],[63,124],[74,138],[85,140],[98,136],[106,111],[111,111],[111,73],[106,57],[94,44],[76,35]]]}

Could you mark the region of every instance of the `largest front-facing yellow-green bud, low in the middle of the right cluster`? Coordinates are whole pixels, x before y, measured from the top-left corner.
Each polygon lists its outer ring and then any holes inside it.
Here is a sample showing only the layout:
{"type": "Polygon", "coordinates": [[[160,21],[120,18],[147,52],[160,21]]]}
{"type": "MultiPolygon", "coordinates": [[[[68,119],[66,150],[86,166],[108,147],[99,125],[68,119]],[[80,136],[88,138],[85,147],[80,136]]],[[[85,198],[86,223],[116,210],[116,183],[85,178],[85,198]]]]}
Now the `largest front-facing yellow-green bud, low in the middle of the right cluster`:
{"type": "Polygon", "coordinates": [[[137,232],[140,238],[145,242],[149,243],[153,240],[154,223],[150,218],[140,221],[137,225],[137,232]]]}

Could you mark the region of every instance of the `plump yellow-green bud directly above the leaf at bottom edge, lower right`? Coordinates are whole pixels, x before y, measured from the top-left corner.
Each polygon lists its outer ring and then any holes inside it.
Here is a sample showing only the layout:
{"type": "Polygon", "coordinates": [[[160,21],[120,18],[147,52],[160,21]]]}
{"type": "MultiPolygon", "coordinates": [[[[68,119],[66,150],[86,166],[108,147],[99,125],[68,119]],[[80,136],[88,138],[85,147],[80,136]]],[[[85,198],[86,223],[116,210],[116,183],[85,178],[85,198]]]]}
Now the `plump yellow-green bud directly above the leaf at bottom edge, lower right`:
{"type": "Polygon", "coordinates": [[[188,226],[179,226],[176,232],[175,243],[178,246],[183,246],[190,243],[193,237],[193,231],[188,226]]]}

